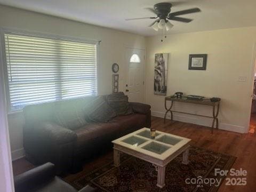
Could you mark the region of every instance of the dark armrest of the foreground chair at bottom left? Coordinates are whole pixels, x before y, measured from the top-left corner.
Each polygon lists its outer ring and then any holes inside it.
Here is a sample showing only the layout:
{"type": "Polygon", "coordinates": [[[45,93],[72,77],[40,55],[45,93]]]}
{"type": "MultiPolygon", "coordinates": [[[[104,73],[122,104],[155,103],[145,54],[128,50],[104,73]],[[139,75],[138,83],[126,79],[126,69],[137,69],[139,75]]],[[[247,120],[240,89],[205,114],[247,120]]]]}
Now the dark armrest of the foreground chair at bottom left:
{"type": "Polygon", "coordinates": [[[14,177],[15,191],[27,191],[54,177],[54,164],[45,163],[14,177]]]}

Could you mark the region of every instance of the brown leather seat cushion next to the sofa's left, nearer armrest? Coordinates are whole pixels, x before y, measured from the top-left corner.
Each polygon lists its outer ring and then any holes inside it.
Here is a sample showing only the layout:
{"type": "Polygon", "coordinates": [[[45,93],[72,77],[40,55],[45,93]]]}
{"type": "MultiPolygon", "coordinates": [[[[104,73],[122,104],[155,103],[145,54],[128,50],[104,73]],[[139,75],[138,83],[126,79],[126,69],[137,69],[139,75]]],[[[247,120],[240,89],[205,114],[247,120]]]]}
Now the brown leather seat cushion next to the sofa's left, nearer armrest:
{"type": "MultiPolygon", "coordinates": [[[[94,148],[102,145],[103,140],[111,141],[119,133],[118,123],[92,123],[75,130],[77,134],[76,150],[83,148],[94,148]]],[[[102,147],[102,146],[101,146],[102,147]]]]}

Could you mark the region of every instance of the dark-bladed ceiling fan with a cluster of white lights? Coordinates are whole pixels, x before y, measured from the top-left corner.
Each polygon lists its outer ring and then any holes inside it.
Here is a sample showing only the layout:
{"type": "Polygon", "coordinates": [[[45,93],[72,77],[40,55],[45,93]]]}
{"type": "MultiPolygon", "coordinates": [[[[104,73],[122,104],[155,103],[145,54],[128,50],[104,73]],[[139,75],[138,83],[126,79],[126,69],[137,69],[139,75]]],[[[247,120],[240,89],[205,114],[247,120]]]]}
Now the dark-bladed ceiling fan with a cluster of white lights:
{"type": "Polygon", "coordinates": [[[130,21],[130,20],[138,20],[138,19],[157,19],[153,23],[151,23],[151,25],[149,27],[152,27],[156,31],[158,31],[158,29],[170,30],[173,27],[173,25],[172,25],[172,23],[170,23],[169,20],[188,23],[188,22],[193,21],[193,19],[182,18],[182,17],[178,17],[178,16],[183,15],[183,14],[201,12],[201,10],[199,8],[193,8],[193,9],[177,11],[177,12],[172,13],[171,7],[172,7],[171,3],[157,3],[154,5],[154,9],[147,8],[149,11],[156,14],[156,17],[133,18],[133,19],[125,19],[125,20],[130,21]]]}

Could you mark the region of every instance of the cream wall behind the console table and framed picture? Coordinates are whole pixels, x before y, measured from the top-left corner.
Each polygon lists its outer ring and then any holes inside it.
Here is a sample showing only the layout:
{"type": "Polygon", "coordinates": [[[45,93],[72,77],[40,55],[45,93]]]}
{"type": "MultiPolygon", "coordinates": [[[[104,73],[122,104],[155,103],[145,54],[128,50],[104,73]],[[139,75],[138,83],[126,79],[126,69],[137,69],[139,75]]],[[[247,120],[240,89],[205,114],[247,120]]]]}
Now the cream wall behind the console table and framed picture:
{"type": "MultiPolygon", "coordinates": [[[[147,38],[146,102],[153,115],[164,115],[164,97],[154,95],[154,55],[170,53],[167,95],[185,94],[221,98],[220,129],[244,132],[250,118],[253,46],[256,27],[203,31],[147,38]],[[189,54],[207,54],[206,70],[188,70],[189,54]],[[246,82],[238,82],[245,76],[246,82]]],[[[209,107],[176,103],[175,109],[211,115],[209,107]]],[[[211,119],[175,115],[174,119],[211,126],[211,119]]]]}

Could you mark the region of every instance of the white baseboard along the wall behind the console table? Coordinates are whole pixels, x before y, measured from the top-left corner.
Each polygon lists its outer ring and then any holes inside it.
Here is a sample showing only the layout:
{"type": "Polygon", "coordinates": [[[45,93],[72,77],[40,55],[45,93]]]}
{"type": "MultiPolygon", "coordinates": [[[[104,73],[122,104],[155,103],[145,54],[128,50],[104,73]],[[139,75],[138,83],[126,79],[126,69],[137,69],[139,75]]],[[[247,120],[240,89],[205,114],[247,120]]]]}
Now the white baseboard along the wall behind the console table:
{"type": "MultiPolygon", "coordinates": [[[[163,112],[160,111],[151,111],[151,115],[155,117],[161,117],[164,118],[163,112]]],[[[166,116],[167,119],[171,119],[170,113],[166,116]]],[[[178,113],[173,113],[173,120],[180,121],[180,122],[186,122],[186,123],[193,123],[197,125],[203,125],[207,127],[212,126],[212,119],[206,118],[206,117],[200,117],[193,116],[193,115],[180,115],[178,113]]],[[[232,125],[227,123],[219,123],[219,129],[226,130],[226,131],[233,131],[238,133],[245,133],[245,127],[239,126],[239,125],[232,125]]]]}

